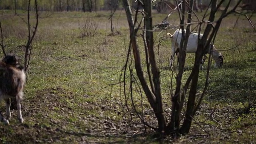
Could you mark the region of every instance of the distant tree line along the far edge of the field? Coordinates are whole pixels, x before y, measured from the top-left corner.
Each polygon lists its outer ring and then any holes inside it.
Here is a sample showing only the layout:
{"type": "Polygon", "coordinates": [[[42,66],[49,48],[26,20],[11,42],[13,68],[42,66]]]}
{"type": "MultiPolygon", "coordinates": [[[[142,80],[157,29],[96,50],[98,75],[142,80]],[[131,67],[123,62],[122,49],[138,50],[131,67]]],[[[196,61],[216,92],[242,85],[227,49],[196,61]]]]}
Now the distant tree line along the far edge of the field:
{"type": "MultiPolygon", "coordinates": [[[[28,0],[0,0],[1,10],[27,10],[28,0]]],[[[136,9],[137,2],[135,0],[128,0],[131,6],[136,9]]],[[[195,0],[197,2],[198,0],[195,0]]],[[[238,0],[232,0],[230,5],[236,4],[238,0]]],[[[246,0],[243,0],[246,4],[246,0]]],[[[168,3],[175,4],[175,0],[157,0],[153,2],[153,8],[157,9],[157,5],[163,2],[164,5],[168,3]]],[[[211,0],[200,0],[199,3],[208,6],[211,0]]],[[[197,3],[196,3],[197,4],[197,3]]],[[[223,6],[226,6],[228,1],[223,2],[223,6]]],[[[34,6],[34,1],[31,2],[31,6],[34,6]]],[[[247,5],[246,5],[247,6],[247,5]]],[[[163,6],[162,6],[163,7],[163,6]]],[[[162,8],[165,10],[164,8],[162,8]]],[[[164,6],[165,7],[165,6],[164,6]]],[[[169,6],[170,7],[170,6],[169,6]]],[[[83,11],[83,12],[96,12],[98,10],[114,10],[115,8],[122,8],[121,0],[38,0],[39,11],[83,11]]],[[[169,11],[169,10],[168,10],[169,11]]]]}

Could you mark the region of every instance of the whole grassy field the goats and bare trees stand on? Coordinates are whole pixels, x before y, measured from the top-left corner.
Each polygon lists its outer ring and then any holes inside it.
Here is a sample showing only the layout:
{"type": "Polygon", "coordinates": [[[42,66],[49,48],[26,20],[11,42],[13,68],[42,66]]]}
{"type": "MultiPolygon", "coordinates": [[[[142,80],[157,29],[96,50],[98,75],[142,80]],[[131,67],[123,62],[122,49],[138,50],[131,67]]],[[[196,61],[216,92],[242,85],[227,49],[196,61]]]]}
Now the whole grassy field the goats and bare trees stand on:
{"type": "MultiPolygon", "coordinates": [[[[26,12],[19,13],[26,18],[26,12]]],[[[22,102],[24,123],[20,124],[16,111],[12,111],[10,126],[0,123],[0,143],[158,143],[152,130],[145,131],[135,114],[127,113],[122,85],[108,86],[120,81],[129,43],[124,11],[114,15],[114,28],[120,32],[115,36],[108,36],[109,15],[110,12],[40,12],[22,102]],[[99,33],[81,38],[78,25],[88,19],[98,24],[99,33]]],[[[165,16],[154,13],[153,23],[158,24],[165,16]]],[[[256,108],[250,113],[242,112],[249,95],[256,97],[256,33],[242,16],[233,28],[237,17],[231,14],[222,22],[215,46],[222,50],[224,65],[221,69],[212,66],[208,92],[190,134],[175,141],[166,138],[164,143],[256,143],[256,108]],[[228,50],[235,46],[238,47],[228,50]]],[[[7,10],[1,11],[0,19],[6,51],[12,50],[23,59],[24,49],[19,46],[26,42],[26,24],[7,10]]],[[[168,21],[179,24],[178,15],[174,13],[168,21]]],[[[252,22],[255,24],[256,16],[252,22]]],[[[170,111],[171,42],[164,38],[167,32],[174,30],[154,32],[154,36],[165,109],[170,111]],[[164,40],[158,47],[160,38],[164,40]]],[[[139,44],[144,58],[141,39],[139,44]]],[[[188,54],[184,81],[193,60],[194,54],[188,54]]],[[[145,66],[145,62],[142,64],[145,66]]],[[[199,93],[205,76],[206,71],[201,70],[199,93]]],[[[134,100],[139,106],[140,96],[134,95],[134,100]]],[[[156,125],[145,96],[142,103],[145,119],[156,125]]],[[[0,110],[5,114],[4,102],[0,110]]]]}

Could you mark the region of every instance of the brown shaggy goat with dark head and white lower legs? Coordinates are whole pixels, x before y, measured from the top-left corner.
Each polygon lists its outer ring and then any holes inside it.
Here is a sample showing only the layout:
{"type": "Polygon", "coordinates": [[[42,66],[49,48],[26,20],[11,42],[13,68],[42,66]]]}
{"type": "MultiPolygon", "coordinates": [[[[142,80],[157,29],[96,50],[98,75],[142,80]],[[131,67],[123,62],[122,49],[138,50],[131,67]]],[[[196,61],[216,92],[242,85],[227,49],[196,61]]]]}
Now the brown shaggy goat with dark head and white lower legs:
{"type": "Polygon", "coordinates": [[[10,98],[16,98],[18,119],[23,122],[20,102],[23,99],[23,88],[26,80],[24,67],[20,65],[20,59],[13,54],[8,54],[0,62],[0,101],[6,103],[6,118],[0,111],[0,121],[9,124],[11,118],[10,98]]]}

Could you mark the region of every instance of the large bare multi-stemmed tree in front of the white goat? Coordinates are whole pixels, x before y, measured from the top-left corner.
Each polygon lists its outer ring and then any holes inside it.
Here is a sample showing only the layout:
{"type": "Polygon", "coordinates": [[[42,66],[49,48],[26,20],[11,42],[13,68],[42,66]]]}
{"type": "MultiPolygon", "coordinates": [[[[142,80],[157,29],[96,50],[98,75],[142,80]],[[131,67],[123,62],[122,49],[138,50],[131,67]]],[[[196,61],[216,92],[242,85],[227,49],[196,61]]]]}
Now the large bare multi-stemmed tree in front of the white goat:
{"type": "MultiPolygon", "coordinates": [[[[209,70],[210,70],[210,58],[208,60],[208,68],[207,68],[207,76],[204,86],[204,91],[199,97],[198,101],[196,101],[196,92],[197,92],[197,85],[198,85],[198,77],[199,77],[199,69],[200,69],[200,61],[202,60],[202,56],[206,54],[211,43],[214,43],[216,38],[218,29],[222,22],[222,19],[228,16],[229,14],[235,12],[236,8],[240,4],[242,0],[239,0],[236,3],[236,6],[232,8],[232,10],[228,11],[230,6],[229,0],[228,5],[225,7],[224,11],[222,12],[219,18],[215,17],[215,14],[218,8],[222,5],[224,0],[221,0],[218,5],[217,0],[211,1],[211,11],[208,20],[206,20],[206,13],[204,14],[202,20],[199,20],[196,13],[192,10],[194,0],[184,0],[182,1],[182,11],[178,7],[178,0],[176,0],[176,8],[178,8],[178,14],[180,17],[180,29],[182,30],[182,40],[180,42],[180,50],[178,55],[178,74],[176,76],[176,88],[174,94],[171,92],[171,101],[172,101],[172,112],[170,114],[170,121],[168,122],[166,118],[166,113],[164,112],[163,102],[162,102],[162,93],[161,93],[161,85],[160,85],[160,70],[157,66],[154,54],[154,36],[153,36],[153,28],[152,28],[152,0],[144,0],[138,1],[139,6],[135,14],[132,14],[131,6],[128,0],[123,0],[122,4],[124,9],[126,10],[126,16],[128,20],[128,24],[130,27],[130,47],[128,50],[127,58],[131,58],[129,56],[130,51],[132,50],[136,74],[138,76],[138,80],[140,81],[140,85],[148,99],[148,102],[151,108],[154,111],[154,114],[157,118],[158,127],[155,128],[144,121],[141,114],[137,115],[142,120],[142,122],[158,131],[160,134],[172,134],[173,136],[179,136],[180,134],[187,134],[190,130],[191,123],[193,117],[198,110],[200,103],[202,102],[202,98],[206,93],[207,86],[208,86],[208,78],[209,78],[209,70]],[[139,11],[139,7],[142,6],[144,10],[139,11]],[[185,6],[189,7],[188,13],[185,12],[185,6]],[[142,14],[142,19],[138,20],[138,14],[142,14]],[[185,22],[185,16],[188,14],[188,18],[185,22]],[[192,22],[192,14],[196,16],[198,22],[192,22]],[[133,17],[134,15],[134,17],[133,17]],[[216,20],[217,19],[217,20],[216,20]],[[142,28],[142,21],[144,21],[144,27],[142,28]],[[206,22],[208,23],[202,38],[199,38],[201,30],[201,25],[206,22]],[[192,24],[198,24],[199,36],[198,36],[198,48],[196,51],[196,57],[194,60],[194,67],[192,72],[188,76],[186,83],[182,84],[182,76],[184,71],[184,63],[186,58],[186,46],[188,42],[188,37],[190,35],[190,28],[192,24]],[[186,28],[186,33],[185,29],[186,28]],[[142,68],[142,59],[140,56],[140,49],[137,40],[137,32],[143,29],[143,41],[144,41],[144,50],[146,55],[146,72],[144,72],[142,68]],[[146,78],[147,76],[147,78],[146,78]],[[191,84],[191,85],[190,85],[191,84]],[[189,92],[188,88],[190,88],[189,92]],[[185,98],[188,95],[188,100],[185,103],[185,98]],[[185,110],[185,117],[183,122],[181,121],[181,112],[185,110]],[[181,124],[182,122],[182,124],[181,124]]],[[[210,6],[210,5],[209,5],[210,6]]],[[[207,11],[206,11],[207,12],[207,11]]],[[[168,18],[170,14],[166,18],[168,18]]],[[[163,20],[165,21],[166,18],[163,20]]],[[[210,55],[211,56],[211,55],[210,55]]],[[[127,62],[123,68],[124,72],[126,72],[127,62]]],[[[131,73],[130,73],[131,74],[131,73]]],[[[124,74],[125,76],[125,74],[124,74]]],[[[131,77],[136,80],[134,76],[131,77]]],[[[173,77],[173,73],[172,73],[173,77]]],[[[125,80],[125,78],[124,78],[125,80]]],[[[131,85],[134,83],[133,80],[130,80],[131,85]]],[[[132,97],[132,86],[130,86],[130,94],[132,97]]],[[[134,108],[136,111],[136,108],[134,108]]]]}

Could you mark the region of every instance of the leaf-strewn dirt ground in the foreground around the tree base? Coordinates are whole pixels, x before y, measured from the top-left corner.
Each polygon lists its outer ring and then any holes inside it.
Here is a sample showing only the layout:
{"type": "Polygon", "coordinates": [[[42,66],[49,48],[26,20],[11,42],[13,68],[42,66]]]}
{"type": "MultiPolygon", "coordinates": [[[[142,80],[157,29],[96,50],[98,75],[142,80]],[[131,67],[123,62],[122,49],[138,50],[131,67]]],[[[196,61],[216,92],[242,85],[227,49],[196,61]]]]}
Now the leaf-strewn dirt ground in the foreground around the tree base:
{"type": "MultiPolygon", "coordinates": [[[[164,108],[166,112],[171,112],[167,104],[164,108]]],[[[78,95],[61,87],[46,88],[38,91],[33,98],[24,100],[24,124],[15,119],[16,112],[10,120],[10,126],[0,123],[0,142],[103,144],[110,141],[143,143],[148,142],[148,139],[158,140],[155,132],[146,128],[136,113],[130,111],[131,113],[118,98],[103,100],[95,95],[78,95]],[[124,139],[126,141],[123,141],[124,139]]],[[[144,106],[144,116],[148,124],[156,127],[156,118],[149,106],[144,106]]],[[[164,142],[235,142],[233,136],[244,133],[243,130],[241,132],[239,129],[230,128],[240,116],[234,106],[220,108],[202,104],[195,119],[200,116],[203,116],[205,121],[194,122],[190,134],[182,136],[179,140],[166,137],[164,142]]],[[[246,124],[244,127],[246,128],[246,124]]]]}

